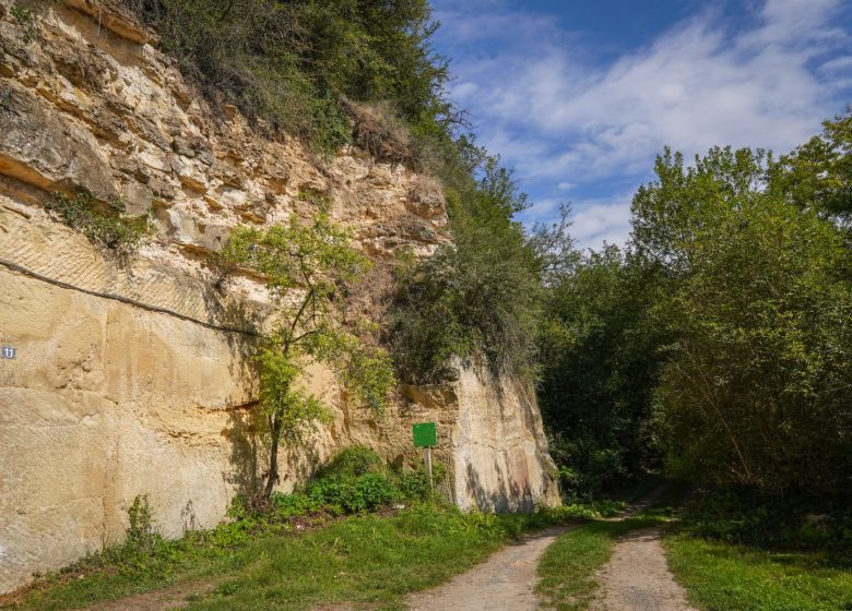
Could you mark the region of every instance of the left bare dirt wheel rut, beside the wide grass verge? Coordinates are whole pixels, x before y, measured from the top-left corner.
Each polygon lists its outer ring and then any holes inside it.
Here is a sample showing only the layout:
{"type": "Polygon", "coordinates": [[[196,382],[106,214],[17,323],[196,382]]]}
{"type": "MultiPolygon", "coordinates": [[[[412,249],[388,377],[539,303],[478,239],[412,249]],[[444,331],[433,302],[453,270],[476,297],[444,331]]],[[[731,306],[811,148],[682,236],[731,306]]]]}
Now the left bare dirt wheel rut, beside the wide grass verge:
{"type": "Polygon", "coordinates": [[[539,561],[566,528],[548,528],[493,554],[452,582],[412,596],[412,611],[534,611],[539,561]]]}

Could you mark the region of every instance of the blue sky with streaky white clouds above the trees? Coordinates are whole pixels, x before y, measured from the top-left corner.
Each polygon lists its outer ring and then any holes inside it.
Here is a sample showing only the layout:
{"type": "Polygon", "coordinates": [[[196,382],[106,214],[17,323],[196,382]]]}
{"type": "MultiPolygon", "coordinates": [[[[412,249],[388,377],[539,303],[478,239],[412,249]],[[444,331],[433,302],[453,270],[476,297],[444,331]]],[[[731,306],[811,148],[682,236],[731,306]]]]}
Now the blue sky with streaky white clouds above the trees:
{"type": "Polygon", "coordinates": [[[848,0],[433,0],[451,99],[514,168],[526,225],[570,204],[582,248],[623,244],[670,145],[784,153],[852,103],[848,0]]]}

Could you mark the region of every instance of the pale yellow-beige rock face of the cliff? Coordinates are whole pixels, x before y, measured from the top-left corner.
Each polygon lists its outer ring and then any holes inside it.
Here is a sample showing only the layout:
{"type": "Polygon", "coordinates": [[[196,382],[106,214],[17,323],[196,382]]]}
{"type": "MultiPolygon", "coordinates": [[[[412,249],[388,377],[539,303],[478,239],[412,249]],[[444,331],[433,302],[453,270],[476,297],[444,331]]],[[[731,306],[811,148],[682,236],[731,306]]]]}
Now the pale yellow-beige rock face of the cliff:
{"type": "MultiPolygon", "coordinates": [[[[211,527],[250,484],[256,340],[251,278],[213,288],[206,255],[237,225],[279,223],[331,201],[377,261],[448,239],[440,185],[357,149],[318,160],[213,117],[156,36],[88,0],[32,23],[0,0],[0,592],[119,541],[149,494],[159,530],[211,527]],[[103,10],[102,10],[103,9],[103,10]],[[156,238],[119,264],[54,219],[54,191],[120,196],[156,238]]],[[[419,463],[411,424],[435,420],[447,491],[462,507],[558,503],[532,394],[460,363],[457,382],[404,387],[377,422],[311,368],[334,421],[282,451],[282,489],[363,443],[419,463]]]]}

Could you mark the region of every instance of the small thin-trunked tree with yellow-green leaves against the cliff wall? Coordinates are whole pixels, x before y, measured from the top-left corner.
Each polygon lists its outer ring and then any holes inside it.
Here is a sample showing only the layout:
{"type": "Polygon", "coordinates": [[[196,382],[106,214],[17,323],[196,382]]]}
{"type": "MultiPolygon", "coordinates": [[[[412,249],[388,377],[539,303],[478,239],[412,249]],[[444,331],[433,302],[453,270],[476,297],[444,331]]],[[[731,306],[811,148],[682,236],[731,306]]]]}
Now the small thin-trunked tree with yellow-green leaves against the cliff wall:
{"type": "Polygon", "coordinates": [[[264,278],[275,303],[257,357],[269,442],[263,498],[279,481],[281,442],[297,442],[329,418],[322,402],[305,390],[309,362],[330,366],[376,416],[395,384],[387,352],[346,330],[341,320],[346,287],[369,267],[350,242],[348,231],[322,211],[308,224],[293,218],[264,230],[238,228],[223,250],[224,261],[264,278]]]}

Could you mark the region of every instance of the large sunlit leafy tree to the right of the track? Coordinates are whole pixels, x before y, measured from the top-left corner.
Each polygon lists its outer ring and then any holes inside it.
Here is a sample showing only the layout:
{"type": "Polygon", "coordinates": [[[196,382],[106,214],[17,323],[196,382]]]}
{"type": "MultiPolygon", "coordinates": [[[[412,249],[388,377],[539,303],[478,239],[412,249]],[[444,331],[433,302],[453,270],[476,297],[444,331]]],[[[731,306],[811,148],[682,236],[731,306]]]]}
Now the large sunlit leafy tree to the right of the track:
{"type": "Polygon", "coordinates": [[[634,199],[637,252],[671,280],[658,417],[682,474],[830,492],[852,472],[850,253],[772,167],[759,151],[688,168],[666,152],[634,199]]]}

